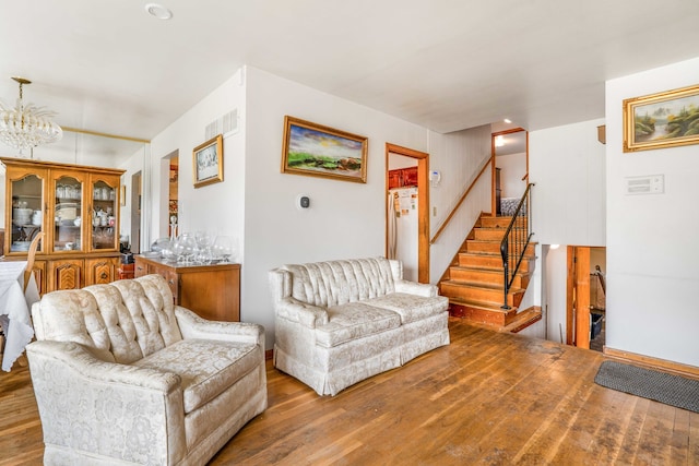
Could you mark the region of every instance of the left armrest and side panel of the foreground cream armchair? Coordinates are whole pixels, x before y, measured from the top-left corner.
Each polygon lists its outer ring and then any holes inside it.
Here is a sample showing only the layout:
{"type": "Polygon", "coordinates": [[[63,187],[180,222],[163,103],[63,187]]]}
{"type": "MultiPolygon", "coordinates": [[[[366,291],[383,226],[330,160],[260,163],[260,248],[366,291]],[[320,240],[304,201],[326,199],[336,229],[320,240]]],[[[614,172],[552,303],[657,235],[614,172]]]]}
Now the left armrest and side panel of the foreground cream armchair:
{"type": "Polygon", "coordinates": [[[106,362],[73,342],[34,342],[26,353],[47,445],[126,463],[183,458],[179,375],[106,362]]]}

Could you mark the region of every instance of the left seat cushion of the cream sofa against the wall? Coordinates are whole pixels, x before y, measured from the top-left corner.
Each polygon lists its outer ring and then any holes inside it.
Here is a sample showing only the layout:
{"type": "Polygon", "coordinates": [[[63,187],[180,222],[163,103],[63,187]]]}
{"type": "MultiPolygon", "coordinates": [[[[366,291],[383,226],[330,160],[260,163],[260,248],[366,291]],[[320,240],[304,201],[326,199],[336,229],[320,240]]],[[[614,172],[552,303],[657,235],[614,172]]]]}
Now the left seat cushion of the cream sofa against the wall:
{"type": "Polygon", "coordinates": [[[398,328],[401,316],[364,302],[348,302],[328,309],[328,323],[316,327],[316,343],[325,348],[398,328]]]}

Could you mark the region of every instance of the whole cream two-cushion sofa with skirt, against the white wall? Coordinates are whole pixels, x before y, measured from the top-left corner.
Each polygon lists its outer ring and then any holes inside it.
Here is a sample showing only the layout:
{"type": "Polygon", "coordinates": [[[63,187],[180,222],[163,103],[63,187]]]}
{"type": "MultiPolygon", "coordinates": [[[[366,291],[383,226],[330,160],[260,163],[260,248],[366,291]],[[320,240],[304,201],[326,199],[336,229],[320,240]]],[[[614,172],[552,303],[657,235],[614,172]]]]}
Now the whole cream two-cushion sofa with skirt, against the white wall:
{"type": "Polygon", "coordinates": [[[384,258],[287,264],[270,271],[274,366],[320,395],[449,344],[449,300],[403,279],[384,258]]]}

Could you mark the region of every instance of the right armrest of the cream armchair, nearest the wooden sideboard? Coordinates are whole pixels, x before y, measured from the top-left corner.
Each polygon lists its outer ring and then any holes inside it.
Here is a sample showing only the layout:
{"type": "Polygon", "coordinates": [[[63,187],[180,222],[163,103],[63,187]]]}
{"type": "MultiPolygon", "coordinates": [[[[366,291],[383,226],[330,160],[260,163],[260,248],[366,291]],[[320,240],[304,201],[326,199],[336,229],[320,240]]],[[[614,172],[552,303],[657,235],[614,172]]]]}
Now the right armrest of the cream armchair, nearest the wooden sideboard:
{"type": "Polygon", "coordinates": [[[182,338],[215,339],[259,344],[264,349],[264,327],[247,322],[209,321],[181,306],[175,307],[175,316],[182,338]]]}

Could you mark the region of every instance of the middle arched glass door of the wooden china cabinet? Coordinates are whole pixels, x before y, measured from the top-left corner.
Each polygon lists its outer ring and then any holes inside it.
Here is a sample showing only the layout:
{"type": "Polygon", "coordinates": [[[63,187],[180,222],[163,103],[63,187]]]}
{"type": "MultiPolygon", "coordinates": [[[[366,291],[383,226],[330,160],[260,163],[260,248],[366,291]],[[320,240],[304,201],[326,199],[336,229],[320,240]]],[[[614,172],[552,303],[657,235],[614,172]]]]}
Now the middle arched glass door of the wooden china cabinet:
{"type": "Polygon", "coordinates": [[[75,174],[57,174],[54,178],[54,251],[84,251],[84,179],[75,174]]]}

